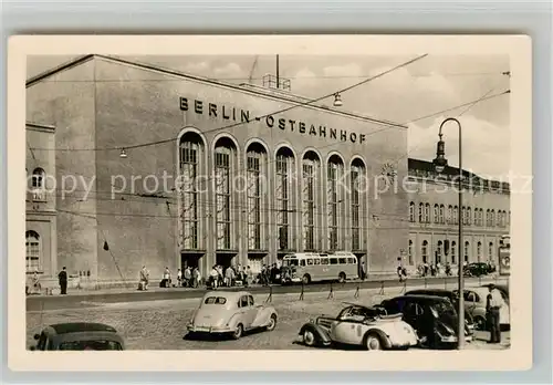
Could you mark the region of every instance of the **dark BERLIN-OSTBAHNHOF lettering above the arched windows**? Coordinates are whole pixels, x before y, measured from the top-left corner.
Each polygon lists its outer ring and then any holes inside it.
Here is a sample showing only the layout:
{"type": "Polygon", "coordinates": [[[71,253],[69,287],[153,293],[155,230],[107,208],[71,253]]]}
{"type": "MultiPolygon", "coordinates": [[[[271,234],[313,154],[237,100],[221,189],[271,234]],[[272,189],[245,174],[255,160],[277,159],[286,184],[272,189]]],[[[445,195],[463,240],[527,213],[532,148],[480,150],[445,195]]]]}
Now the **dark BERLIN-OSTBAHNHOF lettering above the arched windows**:
{"type": "MultiPolygon", "coordinates": [[[[179,97],[180,111],[190,111],[189,100],[187,97],[179,97]]],[[[236,107],[229,107],[226,105],[219,106],[215,103],[204,103],[202,101],[195,100],[192,111],[198,115],[208,114],[210,117],[222,117],[225,121],[250,123],[250,112],[246,110],[237,110],[236,107]]],[[[300,134],[307,134],[313,136],[330,137],[331,139],[341,142],[352,142],[352,143],[364,143],[365,134],[348,133],[344,129],[330,128],[326,126],[319,126],[306,124],[301,121],[286,119],[284,117],[274,117],[272,115],[263,115],[262,117],[255,117],[255,121],[265,122],[267,126],[270,128],[278,127],[282,131],[290,129],[291,132],[298,132],[300,134]]]]}

